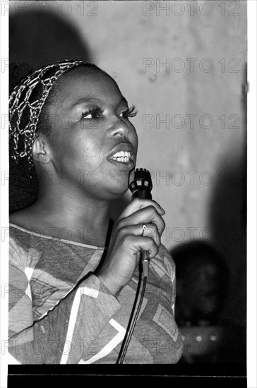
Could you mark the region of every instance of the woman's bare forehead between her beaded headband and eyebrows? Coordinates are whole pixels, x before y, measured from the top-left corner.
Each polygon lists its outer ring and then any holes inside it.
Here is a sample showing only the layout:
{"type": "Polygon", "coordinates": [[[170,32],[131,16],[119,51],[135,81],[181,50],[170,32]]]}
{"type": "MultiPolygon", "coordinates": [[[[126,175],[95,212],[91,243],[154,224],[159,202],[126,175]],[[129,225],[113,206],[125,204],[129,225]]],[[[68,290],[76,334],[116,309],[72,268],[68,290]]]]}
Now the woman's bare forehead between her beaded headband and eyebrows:
{"type": "Polygon", "coordinates": [[[122,97],[114,79],[97,68],[73,68],[57,82],[56,92],[60,102],[76,103],[79,99],[89,96],[115,104],[122,97]]]}

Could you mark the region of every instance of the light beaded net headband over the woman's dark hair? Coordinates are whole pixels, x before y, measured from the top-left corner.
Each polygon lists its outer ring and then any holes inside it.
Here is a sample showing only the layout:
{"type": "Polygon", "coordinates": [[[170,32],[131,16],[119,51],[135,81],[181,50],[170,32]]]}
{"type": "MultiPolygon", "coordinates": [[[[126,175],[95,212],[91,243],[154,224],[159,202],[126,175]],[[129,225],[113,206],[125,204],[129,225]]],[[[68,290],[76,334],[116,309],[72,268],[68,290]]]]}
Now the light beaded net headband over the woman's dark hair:
{"type": "Polygon", "coordinates": [[[59,61],[44,66],[24,78],[11,93],[9,99],[9,140],[12,142],[11,158],[28,158],[31,170],[32,144],[40,113],[56,80],[73,67],[90,64],[88,61],[59,61]]]}

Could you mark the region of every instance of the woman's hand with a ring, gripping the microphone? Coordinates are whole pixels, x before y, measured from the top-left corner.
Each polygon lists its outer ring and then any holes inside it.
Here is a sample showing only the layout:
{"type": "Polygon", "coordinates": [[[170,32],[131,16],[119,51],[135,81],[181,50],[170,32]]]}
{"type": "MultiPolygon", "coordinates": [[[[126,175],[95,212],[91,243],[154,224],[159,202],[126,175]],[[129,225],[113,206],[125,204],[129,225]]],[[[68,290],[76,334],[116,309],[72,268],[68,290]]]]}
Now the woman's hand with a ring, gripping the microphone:
{"type": "Polygon", "coordinates": [[[107,256],[95,273],[114,296],[131,281],[141,250],[148,250],[150,259],[157,255],[164,214],[157,202],[135,198],[114,222],[107,256]],[[148,228],[144,235],[143,224],[148,228]]]}

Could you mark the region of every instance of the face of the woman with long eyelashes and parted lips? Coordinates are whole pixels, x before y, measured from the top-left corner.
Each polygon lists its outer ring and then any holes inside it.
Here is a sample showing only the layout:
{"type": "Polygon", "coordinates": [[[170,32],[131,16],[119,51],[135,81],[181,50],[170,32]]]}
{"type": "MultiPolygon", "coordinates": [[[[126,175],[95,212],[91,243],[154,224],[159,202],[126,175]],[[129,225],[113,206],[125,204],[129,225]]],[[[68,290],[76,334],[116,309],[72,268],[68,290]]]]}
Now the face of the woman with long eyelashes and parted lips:
{"type": "Polygon", "coordinates": [[[56,87],[48,113],[59,181],[97,198],[124,194],[136,164],[138,137],[119,87],[109,75],[85,67],[68,71],[56,87]]]}

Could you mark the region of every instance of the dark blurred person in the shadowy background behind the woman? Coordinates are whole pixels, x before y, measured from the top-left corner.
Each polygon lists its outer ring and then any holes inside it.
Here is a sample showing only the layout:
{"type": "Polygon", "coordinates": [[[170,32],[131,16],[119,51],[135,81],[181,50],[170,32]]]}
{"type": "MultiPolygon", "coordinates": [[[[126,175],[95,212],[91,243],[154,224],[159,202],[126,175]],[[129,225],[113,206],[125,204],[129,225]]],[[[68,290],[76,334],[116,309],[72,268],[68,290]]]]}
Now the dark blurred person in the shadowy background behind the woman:
{"type": "Polygon", "coordinates": [[[240,328],[222,320],[229,270],[212,245],[193,241],[171,252],[177,272],[175,316],[184,353],[181,363],[245,363],[240,328]]]}

